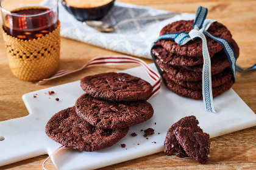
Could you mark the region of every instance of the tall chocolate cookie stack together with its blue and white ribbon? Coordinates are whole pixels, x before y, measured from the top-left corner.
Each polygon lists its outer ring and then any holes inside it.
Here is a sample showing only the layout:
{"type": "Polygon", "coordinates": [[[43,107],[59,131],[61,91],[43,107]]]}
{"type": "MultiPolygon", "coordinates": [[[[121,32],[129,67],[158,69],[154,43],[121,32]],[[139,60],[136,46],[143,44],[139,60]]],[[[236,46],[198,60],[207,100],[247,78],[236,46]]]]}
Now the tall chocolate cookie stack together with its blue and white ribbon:
{"type": "Polygon", "coordinates": [[[163,27],[151,54],[168,89],[183,97],[203,99],[205,110],[215,112],[213,97],[235,82],[239,47],[224,25],[205,19],[206,15],[207,9],[199,7],[195,20],[163,27]]]}

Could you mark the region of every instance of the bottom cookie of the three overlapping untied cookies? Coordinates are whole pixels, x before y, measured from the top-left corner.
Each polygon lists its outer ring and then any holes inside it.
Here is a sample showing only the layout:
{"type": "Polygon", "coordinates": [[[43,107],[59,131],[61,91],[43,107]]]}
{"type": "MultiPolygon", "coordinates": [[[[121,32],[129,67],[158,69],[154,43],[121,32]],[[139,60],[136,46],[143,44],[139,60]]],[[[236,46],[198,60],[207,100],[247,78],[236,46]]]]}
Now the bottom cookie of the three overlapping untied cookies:
{"type": "Polygon", "coordinates": [[[100,129],[76,114],[75,107],[61,110],[46,124],[46,134],[69,148],[79,151],[98,151],[112,146],[125,137],[126,129],[100,129]]]}

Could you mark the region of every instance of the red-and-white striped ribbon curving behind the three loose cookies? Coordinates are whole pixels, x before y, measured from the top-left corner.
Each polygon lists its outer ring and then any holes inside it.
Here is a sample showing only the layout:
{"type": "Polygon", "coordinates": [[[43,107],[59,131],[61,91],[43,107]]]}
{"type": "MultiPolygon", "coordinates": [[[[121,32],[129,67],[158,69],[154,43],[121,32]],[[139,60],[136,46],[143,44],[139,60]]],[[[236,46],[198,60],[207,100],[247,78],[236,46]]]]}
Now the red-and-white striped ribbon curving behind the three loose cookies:
{"type": "Polygon", "coordinates": [[[154,81],[154,84],[152,85],[154,87],[152,94],[149,96],[148,100],[153,97],[157,92],[160,90],[160,75],[152,70],[148,64],[146,64],[144,61],[133,58],[131,56],[125,56],[125,55],[116,55],[116,56],[101,56],[98,58],[93,58],[93,60],[88,61],[87,64],[82,66],[79,69],[76,70],[60,70],[59,72],[55,73],[51,78],[46,78],[37,83],[43,84],[48,80],[52,80],[54,78],[63,77],[64,75],[67,75],[69,73],[78,72],[82,69],[85,69],[88,66],[94,66],[94,65],[115,65],[115,64],[140,64],[144,70],[146,70],[146,73],[148,74],[149,78],[151,78],[152,81],[154,81]]]}

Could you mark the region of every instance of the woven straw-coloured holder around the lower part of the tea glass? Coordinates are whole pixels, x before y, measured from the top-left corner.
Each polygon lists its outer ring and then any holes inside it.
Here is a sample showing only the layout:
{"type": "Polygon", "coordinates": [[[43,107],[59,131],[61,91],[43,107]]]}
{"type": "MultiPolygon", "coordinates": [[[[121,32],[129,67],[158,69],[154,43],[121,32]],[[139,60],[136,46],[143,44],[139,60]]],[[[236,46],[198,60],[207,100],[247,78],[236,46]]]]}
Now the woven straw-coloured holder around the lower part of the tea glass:
{"type": "Polygon", "coordinates": [[[3,29],[2,35],[15,77],[38,81],[51,77],[59,69],[60,22],[53,32],[29,41],[7,35],[3,29]]]}

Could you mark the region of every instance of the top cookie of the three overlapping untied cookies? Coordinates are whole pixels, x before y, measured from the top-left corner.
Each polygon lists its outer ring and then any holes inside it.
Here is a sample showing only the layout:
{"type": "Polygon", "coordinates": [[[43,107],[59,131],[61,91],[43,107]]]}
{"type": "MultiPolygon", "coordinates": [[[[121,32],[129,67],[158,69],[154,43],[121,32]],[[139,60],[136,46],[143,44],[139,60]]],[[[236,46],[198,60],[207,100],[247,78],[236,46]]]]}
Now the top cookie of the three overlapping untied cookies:
{"type": "Polygon", "coordinates": [[[153,87],[147,81],[127,73],[101,73],[82,78],[80,86],[85,92],[107,101],[146,100],[153,87]]]}

